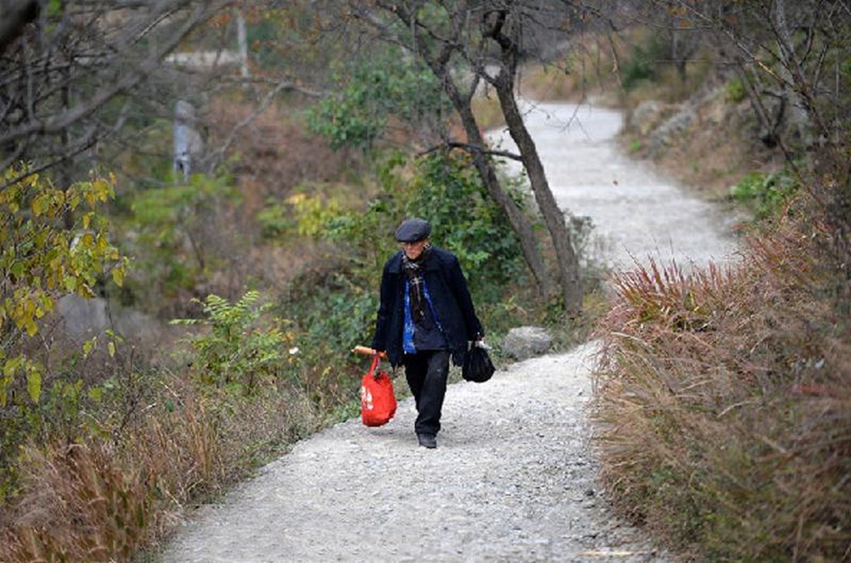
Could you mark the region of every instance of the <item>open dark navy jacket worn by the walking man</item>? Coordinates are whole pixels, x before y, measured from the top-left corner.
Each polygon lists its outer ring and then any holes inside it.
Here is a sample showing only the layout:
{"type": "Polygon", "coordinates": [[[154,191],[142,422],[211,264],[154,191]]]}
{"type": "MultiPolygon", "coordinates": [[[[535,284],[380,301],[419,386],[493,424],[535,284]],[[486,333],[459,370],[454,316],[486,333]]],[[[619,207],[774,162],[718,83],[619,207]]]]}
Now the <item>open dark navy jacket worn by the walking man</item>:
{"type": "MultiPolygon", "coordinates": [[[[402,329],[404,325],[404,284],[402,252],[391,256],[381,275],[381,303],[372,347],[386,350],[391,366],[402,363],[402,329]]],[[[464,361],[467,343],[483,338],[482,323],[476,316],[467,282],[458,258],[442,248],[431,247],[423,264],[431,302],[443,329],[448,350],[456,366],[464,361]]]]}

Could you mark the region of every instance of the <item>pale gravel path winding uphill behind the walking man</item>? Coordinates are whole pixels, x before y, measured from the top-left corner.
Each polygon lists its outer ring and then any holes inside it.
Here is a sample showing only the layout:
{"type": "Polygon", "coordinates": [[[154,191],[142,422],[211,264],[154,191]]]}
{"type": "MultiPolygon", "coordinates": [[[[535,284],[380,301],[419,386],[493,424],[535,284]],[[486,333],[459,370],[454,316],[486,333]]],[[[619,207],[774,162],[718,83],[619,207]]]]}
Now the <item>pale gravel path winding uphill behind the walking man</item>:
{"type": "MultiPolygon", "coordinates": [[[[618,154],[619,113],[542,104],[528,126],[558,202],[593,218],[610,264],[728,257],[709,205],[618,154]]],[[[410,400],[381,428],[353,419],[301,441],[201,509],[163,561],[671,561],[611,515],[595,481],[596,351],[450,386],[437,450],[416,445],[410,400]]]]}

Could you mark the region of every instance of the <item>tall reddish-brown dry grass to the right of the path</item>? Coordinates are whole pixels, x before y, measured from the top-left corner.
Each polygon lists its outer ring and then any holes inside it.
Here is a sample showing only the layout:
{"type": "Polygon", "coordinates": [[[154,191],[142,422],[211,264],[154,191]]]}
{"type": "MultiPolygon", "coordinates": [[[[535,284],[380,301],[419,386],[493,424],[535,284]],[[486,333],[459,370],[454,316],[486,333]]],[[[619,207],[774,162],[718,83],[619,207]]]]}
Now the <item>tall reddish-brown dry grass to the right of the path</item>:
{"type": "Polygon", "coordinates": [[[685,556],[851,558],[851,319],[829,250],[818,225],[785,220],[740,264],[616,280],[603,480],[685,556]]]}

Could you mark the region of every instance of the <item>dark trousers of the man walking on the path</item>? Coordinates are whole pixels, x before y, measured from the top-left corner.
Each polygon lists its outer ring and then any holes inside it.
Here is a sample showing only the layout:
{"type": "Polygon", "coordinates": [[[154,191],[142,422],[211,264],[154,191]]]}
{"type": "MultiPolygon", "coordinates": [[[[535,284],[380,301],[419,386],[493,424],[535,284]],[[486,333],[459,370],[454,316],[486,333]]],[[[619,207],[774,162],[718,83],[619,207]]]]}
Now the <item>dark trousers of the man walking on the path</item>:
{"type": "Polygon", "coordinates": [[[417,405],[414,432],[437,435],[449,376],[447,350],[423,350],[403,356],[405,378],[417,405]]]}

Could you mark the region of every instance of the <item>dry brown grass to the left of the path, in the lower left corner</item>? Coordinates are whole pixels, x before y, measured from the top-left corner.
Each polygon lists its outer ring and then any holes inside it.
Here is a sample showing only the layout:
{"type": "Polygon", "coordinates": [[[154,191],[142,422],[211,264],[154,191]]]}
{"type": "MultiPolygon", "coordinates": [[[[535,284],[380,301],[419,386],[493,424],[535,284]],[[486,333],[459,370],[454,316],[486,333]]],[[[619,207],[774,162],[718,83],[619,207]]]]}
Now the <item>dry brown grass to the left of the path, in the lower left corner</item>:
{"type": "Polygon", "coordinates": [[[134,560],[274,454],[271,445],[322,424],[296,388],[210,397],[176,377],[158,383],[157,401],[120,433],[26,446],[0,561],[134,560]]]}

